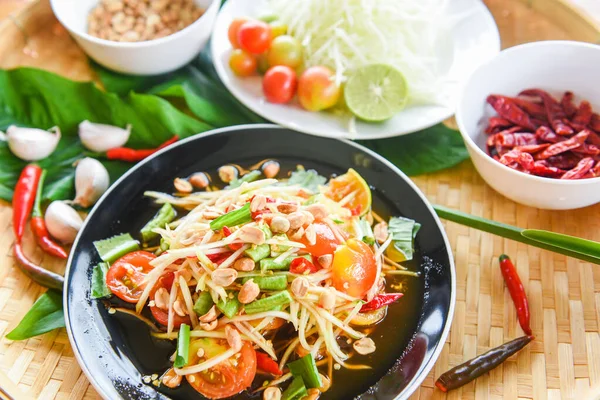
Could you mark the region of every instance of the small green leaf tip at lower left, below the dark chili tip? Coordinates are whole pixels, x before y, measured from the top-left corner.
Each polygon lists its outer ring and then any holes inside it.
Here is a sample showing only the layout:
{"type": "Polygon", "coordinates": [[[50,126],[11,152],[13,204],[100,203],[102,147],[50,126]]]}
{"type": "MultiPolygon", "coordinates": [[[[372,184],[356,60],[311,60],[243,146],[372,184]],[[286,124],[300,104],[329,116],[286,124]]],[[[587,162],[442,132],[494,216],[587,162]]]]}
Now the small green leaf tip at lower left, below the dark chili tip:
{"type": "Polygon", "coordinates": [[[64,326],[62,293],[56,290],[48,290],[33,303],[19,325],[10,331],[6,338],[25,340],[64,326]]]}

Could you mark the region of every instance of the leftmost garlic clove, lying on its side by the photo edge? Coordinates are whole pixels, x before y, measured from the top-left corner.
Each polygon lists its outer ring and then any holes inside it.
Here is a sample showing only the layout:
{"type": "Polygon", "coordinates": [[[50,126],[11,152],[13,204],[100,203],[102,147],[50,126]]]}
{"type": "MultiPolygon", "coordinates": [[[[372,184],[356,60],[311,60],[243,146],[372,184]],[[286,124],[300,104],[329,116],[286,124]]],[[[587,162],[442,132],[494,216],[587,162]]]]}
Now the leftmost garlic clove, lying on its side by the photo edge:
{"type": "Polygon", "coordinates": [[[11,125],[0,139],[8,142],[12,153],[25,161],[37,161],[48,157],[58,146],[60,129],[57,126],[48,131],[35,128],[21,128],[11,125]]]}

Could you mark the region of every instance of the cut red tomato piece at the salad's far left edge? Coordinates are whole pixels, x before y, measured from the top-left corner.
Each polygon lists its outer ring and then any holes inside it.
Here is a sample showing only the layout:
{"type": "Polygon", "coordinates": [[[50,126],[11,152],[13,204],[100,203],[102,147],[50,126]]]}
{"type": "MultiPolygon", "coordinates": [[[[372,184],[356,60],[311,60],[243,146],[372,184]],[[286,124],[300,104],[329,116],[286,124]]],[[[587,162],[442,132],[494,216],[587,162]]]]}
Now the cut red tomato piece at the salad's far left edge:
{"type": "Polygon", "coordinates": [[[134,251],[119,258],[106,274],[110,291],[123,301],[137,303],[145,287],[142,281],[154,268],[150,261],[155,258],[154,254],[147,251],[134,251]]]}

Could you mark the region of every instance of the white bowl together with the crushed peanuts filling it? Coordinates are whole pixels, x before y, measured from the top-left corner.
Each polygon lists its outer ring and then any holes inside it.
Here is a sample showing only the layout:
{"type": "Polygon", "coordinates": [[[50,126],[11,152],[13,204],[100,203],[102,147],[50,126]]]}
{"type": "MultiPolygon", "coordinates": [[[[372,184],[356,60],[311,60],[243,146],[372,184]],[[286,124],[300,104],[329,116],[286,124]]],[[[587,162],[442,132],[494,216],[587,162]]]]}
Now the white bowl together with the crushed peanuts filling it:
{"type": "Polygon", "coordinates": [[[50,0],[99,64],[134,75],[173,71],[206,46],[221,0],[50,0]]]}

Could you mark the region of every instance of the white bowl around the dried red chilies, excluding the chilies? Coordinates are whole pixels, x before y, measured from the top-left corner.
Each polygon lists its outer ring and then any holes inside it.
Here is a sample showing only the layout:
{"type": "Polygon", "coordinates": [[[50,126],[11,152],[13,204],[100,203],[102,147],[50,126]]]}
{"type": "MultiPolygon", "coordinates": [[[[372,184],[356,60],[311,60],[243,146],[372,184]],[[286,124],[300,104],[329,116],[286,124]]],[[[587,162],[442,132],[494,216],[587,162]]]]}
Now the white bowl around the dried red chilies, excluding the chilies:
{"type": "Polygon", "coordinates": [[[486,104],[490,94],[515,96],[539,88],[560,98],[570,90],[600,110],[600,46],[569,41],[524,44],[502,51],[481,65],[465,82],[456,120],[473,164],[496,191],[518,203],[550,210],[569,210],[600,202],[600,178],[560,180],[515,171],[487,155],[484,133],[495,115],[486,104]]]}

